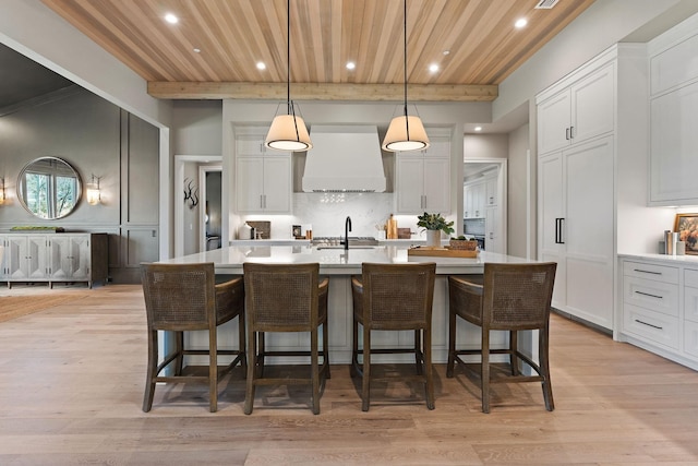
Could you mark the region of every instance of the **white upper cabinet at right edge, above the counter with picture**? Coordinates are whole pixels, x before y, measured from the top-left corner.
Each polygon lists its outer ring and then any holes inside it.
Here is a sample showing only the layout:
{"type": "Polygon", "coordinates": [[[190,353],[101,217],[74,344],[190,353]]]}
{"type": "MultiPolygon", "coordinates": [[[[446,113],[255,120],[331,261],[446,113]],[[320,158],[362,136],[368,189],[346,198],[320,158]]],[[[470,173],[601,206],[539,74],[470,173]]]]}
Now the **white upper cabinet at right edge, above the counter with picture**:
{"type": "Polygon", "coordinates": [[[650,205],[698,204],[698,19],[650,45],[650,205]]]}

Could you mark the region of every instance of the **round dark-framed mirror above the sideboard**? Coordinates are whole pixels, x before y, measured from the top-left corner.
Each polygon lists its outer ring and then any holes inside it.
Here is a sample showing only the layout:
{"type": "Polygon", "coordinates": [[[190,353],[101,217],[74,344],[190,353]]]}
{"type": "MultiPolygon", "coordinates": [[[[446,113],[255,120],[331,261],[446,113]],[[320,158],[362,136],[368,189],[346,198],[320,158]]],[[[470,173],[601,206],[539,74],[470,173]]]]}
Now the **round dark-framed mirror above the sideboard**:
{"type": "Polygon", "coordinates": [[[73,212],[82,192],[80,176],[65,160],[41,157],[20,171],[17,198],[39,218],[62,218],[73,212]]]}

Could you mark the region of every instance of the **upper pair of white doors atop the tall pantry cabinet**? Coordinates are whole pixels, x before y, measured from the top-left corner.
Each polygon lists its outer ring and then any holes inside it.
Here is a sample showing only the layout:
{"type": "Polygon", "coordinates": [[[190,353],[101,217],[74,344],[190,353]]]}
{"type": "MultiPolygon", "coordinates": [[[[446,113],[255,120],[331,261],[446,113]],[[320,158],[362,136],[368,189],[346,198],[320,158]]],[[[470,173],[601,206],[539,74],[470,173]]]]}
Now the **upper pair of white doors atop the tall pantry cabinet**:
{"type": "Polygon", "coordinates": [[[538,151],[546,154],[614,130],[614,67],[589,71],[538,104],[538,151]]]}

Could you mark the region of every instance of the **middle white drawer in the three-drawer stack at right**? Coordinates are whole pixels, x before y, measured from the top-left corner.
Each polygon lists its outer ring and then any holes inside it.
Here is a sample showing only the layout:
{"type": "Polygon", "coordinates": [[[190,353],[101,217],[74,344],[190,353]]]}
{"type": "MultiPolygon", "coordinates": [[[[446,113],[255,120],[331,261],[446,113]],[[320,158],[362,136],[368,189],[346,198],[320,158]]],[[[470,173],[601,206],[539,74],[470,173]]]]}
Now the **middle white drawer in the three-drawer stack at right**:
{"type": "Polygon", "coordinates": [[[677,318],[678,285],[625,276],[623,301],[677,318]]]}

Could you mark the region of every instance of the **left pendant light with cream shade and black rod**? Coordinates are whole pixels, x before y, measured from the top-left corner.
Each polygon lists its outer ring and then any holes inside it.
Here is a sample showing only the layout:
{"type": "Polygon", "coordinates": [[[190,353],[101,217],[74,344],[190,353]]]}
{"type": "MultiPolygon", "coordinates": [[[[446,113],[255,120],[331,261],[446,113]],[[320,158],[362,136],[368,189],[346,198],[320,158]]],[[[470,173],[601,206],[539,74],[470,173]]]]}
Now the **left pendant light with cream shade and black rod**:
{"type": "Polygon", "coordinates": [[[305,122],[301,117],[296,116],[293,100],[291,100],[291,0],[287,0],[286,9],[288,13],[286,28],[286,105],[287,115],[277,115],[272,121],[269,132],[266,134],[265,144],[269,148],[278,151],[302,152],[313,147],[305,122]]]}

